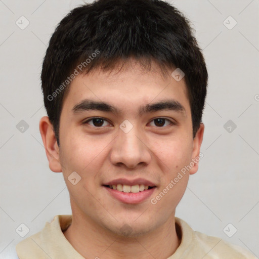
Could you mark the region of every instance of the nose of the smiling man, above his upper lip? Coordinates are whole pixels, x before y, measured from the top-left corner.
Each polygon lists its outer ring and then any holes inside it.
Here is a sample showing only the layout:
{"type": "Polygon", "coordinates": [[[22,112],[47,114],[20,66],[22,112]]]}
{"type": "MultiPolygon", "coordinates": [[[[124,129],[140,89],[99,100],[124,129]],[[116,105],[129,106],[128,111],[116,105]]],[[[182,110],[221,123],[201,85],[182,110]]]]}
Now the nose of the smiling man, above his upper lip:
{"type": "Polygon", "coordinates": [[[118,134],[110,154],[111,162],[114,165],[124,165],[133,169],[140,164],[150,163],[151,151],[137,127],[133,127],[128,133],[119,130],[118,134]]]}

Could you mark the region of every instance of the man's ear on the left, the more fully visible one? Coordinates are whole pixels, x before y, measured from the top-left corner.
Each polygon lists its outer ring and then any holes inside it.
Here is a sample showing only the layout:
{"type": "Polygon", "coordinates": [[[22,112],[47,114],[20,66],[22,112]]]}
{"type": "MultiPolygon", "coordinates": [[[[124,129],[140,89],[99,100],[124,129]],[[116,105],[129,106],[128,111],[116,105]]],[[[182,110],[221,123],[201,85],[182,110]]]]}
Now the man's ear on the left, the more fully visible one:
{"type": "Polygon", "coordinates": [[[49,160],[50,169],[54,172],[62,172],[59,147],[49,117],[45,116],[40,119],[39,131],[49,160]]]}

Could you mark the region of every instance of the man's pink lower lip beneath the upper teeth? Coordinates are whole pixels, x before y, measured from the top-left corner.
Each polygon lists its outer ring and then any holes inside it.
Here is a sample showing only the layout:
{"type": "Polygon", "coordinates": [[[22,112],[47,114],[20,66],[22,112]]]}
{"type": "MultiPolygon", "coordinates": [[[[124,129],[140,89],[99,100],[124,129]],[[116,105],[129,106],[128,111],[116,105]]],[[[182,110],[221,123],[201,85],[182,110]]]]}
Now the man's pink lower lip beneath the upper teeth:
{"type": "Polygon", "coordinates": [[[124,202],[124,203],[130,203],[130,204],[137,204],[141,203],[144,200],[146,200],[148,197],[152,195],[156,187],[153,187],[152,189],[148,189],[142,192],[138,193],[132,193],[132,192],[119,192],[117,190],[113,190],[109,187],[104,187],[107,189],[107,191],[117,200],[124,202]]]}

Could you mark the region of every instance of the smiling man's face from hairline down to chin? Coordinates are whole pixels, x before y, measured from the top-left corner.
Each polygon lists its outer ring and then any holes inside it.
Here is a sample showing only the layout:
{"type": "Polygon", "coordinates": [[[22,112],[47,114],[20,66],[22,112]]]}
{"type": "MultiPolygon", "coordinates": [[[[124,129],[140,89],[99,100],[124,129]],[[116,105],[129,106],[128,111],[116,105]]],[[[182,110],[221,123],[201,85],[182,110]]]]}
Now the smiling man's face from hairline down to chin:
{"type": "Polygon", "coordinates": [[[199,155],[203,135],[201,126],[192,137],[185,81],[153,69],[76,76],[60,117],[57,160],[73,217],[120,235],[171,221],[198,168],[181,172],[199,155]]]}

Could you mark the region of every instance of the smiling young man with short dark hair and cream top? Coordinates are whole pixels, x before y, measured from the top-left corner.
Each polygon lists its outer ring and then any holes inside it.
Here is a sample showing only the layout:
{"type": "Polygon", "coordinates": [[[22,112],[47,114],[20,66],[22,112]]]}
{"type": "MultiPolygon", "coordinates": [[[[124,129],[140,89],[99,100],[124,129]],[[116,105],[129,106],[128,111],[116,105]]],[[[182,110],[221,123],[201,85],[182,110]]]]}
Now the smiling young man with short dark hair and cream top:
{"type": "Polygon", "coordinates": [[[44,59],[39,123],[72,215],[20,242],[19,258],[255,258],[175,217],[202,155],[207,79],[188,20],[169,4],[72,10],[44,59]]]}

